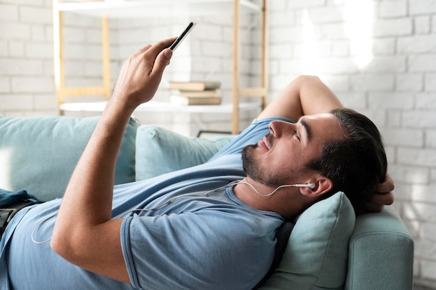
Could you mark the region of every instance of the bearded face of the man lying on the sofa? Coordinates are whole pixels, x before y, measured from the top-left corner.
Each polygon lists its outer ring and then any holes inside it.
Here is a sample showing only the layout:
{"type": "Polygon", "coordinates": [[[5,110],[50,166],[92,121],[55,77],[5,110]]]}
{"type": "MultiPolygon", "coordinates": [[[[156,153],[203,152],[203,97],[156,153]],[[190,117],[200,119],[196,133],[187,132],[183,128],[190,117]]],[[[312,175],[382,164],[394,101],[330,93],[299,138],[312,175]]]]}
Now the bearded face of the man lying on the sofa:
{"type": "Polygon", "coordinates": [[[322,144],[343,136],[332,114],[303,116],[297,123],[272,121],[270,133],[242,151],[245,174],[271,187],[301,183],[299,178],[309,174],[304,169],[320,156],[322,144]]]}

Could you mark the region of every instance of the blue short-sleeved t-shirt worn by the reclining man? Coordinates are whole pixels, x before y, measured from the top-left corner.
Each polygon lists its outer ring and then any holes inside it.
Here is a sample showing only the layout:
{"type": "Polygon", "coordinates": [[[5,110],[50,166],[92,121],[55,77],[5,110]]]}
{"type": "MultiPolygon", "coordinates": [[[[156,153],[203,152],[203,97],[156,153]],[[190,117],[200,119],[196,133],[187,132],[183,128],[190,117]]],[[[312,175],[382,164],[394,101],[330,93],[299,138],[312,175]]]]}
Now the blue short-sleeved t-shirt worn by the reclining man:
{"type": "Polygon", "coordinates": [[[226,185],[244,178],[242,148],[262,139],[271,120],[254,121],[203,165],[114,188],[131,284],[35,243],[52,234],[56,199],[24,208],[6,228],[0,289],[251,289],[270,268],[283,217],[247,206],[226,185]],[[132,211],[139,208],[149,210],[132,211]]]}

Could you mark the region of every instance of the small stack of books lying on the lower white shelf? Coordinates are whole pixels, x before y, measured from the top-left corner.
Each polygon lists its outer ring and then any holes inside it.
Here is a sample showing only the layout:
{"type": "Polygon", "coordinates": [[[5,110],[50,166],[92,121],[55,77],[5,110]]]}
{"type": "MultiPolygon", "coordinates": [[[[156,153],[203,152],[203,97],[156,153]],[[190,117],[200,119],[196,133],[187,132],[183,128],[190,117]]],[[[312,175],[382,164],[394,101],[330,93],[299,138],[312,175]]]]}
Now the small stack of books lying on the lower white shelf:
{"type": "Polygon", "coordinates": [[[177,105],[219,105],[221,82],[170,82],[170,102],[177,105]]]}

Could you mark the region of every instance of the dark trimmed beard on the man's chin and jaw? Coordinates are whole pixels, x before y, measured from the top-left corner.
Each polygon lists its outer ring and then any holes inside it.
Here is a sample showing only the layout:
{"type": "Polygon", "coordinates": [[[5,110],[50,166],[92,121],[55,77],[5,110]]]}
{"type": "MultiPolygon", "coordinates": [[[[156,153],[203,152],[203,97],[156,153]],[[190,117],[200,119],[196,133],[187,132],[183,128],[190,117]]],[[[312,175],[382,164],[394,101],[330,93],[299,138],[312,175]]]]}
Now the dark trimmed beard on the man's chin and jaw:
{"type": "Polygon", "coordinates": [[[286,174],[286,176],[278,172],[277,174],[268,174],[267,170],[262,168],[260,162],[253,157],[253,151],[257,147],[258,144],[253,144],[247,145],[242,149],[242,168],[249,178],[263,185],[277,188],[280,185],[290,183],[296,177],[293,171],[286,174]]]}

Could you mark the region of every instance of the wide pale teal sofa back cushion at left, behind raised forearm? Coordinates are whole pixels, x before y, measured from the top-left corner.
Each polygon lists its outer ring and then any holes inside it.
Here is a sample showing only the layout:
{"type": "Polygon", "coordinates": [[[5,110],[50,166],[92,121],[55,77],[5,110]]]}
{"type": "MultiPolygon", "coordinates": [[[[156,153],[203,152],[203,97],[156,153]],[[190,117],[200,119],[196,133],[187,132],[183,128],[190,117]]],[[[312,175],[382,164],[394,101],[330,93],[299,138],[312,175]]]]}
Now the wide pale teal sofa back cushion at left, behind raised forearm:
{"type": "MultiPolygon", "coordinates": [[[[25,189],[42,201],[62,197],[99,117],[0,118],[0,188],[25,189]]],[[[139,123],[130,120],[116,164],[115,183],[134,181],[139,123]]]]}

